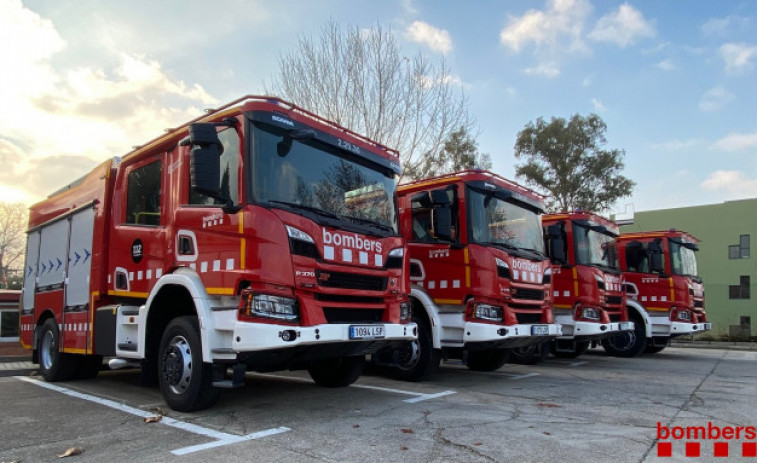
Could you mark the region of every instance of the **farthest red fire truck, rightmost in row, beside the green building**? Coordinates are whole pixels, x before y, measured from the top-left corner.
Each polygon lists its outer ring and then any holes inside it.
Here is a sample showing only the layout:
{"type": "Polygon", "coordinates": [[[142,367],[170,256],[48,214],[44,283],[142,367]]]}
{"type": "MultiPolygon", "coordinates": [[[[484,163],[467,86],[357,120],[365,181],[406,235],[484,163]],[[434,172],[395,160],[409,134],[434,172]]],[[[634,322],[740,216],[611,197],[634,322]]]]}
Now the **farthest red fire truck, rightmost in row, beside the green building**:
{"type": "Polygon", "coordinates": [[[670,338],[712,329],[697,274],[699,242],[678,231],[624,233],[617,238],[620,269],[634,331],[608,338],[605,349],[621,357],[663,350],[670,338]]]}

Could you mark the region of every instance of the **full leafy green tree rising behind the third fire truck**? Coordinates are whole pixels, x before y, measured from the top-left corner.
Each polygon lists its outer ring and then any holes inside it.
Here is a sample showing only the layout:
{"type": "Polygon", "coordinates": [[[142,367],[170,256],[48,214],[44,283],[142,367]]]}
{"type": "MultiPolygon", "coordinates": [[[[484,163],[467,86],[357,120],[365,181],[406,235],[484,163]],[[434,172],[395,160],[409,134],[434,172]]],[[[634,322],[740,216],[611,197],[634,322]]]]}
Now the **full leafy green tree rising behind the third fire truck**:
{"type": "Polygon", "coordinates": [[[607,210],[636,183],[621,175],[625,151],[603,149],[606,131],[596,114],[529,122],[515,142],[515,157],[525,160],[515,173],[548,196],[550,211],[607,210]]]}

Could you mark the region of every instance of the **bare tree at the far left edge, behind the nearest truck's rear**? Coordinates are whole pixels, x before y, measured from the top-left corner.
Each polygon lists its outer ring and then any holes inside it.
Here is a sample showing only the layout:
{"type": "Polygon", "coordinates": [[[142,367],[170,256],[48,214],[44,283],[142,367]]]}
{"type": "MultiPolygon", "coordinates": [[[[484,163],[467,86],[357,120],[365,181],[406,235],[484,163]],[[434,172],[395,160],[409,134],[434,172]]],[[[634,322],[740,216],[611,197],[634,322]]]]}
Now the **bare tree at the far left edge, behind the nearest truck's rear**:
{"type": "Polygon", "coordinates": [[[0,202],[0,288],[8,288],[8,275],[24,264],[27,207],[0,202]]]}

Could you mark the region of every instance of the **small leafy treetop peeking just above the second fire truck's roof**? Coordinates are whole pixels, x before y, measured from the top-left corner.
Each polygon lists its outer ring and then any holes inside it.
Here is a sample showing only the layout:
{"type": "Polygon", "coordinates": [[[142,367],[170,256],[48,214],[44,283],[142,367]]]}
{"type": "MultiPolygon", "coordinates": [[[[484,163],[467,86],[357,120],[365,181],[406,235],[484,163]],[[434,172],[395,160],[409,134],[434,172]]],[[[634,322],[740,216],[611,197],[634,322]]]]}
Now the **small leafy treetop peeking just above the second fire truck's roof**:
{"type": "Polygon", "coordinates": [[[465,126],[461,126],[449,134],[436,154],[426,155],[423,164],[419,166],[417,176],[418,178],[434,177],[474,167],[491,169],[491,157],[487,153],[478,151],[476,140],[468,133],[465,126]]]}

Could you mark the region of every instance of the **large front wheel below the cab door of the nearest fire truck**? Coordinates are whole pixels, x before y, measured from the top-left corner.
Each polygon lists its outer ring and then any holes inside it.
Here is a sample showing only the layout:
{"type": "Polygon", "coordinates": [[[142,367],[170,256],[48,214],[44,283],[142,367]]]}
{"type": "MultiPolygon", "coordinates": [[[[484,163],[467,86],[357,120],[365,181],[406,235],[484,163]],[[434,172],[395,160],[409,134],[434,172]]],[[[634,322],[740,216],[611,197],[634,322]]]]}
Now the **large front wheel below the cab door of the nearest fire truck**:
{"type": "Polygon", "coordinates": [[[197,318],[184,316],[171,320],[158,351],[158,383],[163,399],[179,412],[208,408],[220,395],[212,378],[212,366],[202,361],[197,318]]]}

